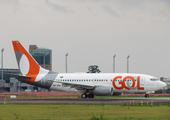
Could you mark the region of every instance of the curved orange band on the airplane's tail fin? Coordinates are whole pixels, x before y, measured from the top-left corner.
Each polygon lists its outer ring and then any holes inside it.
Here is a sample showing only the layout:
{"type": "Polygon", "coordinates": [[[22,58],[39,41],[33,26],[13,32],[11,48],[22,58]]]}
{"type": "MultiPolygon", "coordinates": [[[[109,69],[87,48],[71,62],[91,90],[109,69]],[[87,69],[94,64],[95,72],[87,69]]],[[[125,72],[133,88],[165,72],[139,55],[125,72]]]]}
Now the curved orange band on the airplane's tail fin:
{"type": "Polygon", "coordinates": [[[31,76],[31,79],[28,79],[28,80],[31,82],[34,82],[39,73],[40,66],[34,60],[34,58],[27,52],[27,50],[22,46],[22,44],[19,41],[12,41],[12,43],[13,43],[13,47],[15,51],[19,51],[23,53],[28,58],[30,68],[26,76],[31,76]]]}

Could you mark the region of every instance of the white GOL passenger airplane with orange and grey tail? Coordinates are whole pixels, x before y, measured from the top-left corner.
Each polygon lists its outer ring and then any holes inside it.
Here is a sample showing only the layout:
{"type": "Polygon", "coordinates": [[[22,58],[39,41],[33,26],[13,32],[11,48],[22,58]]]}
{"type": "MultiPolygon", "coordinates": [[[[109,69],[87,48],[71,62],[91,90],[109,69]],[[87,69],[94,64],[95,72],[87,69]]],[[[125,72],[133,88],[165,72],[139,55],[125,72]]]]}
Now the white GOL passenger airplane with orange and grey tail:
{"type": "Polygon", "coordinates": [[[128,93],[149,93],[167,86],[154,76],[136,73],[57,73],[42,68],[31,54],[16,40],[12,41],[19,75],[9,74],[19,81],[34,86],[65,92],[80,92],[82,98],[94,95],[121,95],[128,93]]]}

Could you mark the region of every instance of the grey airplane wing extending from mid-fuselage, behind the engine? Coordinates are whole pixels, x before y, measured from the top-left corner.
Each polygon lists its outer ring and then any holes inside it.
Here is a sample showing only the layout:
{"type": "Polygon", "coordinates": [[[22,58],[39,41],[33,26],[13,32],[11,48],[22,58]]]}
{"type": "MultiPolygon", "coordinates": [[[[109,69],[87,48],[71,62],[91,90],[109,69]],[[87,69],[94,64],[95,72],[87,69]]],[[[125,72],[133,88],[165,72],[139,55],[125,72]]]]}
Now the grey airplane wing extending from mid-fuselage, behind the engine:
{"type": "Polygon", "coordinates": [[[71,88],[76,88],[77,90],[92,90],[95,88],[95,85],[90,84],[80,84],[80,83],[70,83],[70,82],[61,82],[55,81],[57,83],[62,83],[63,86],[70,86],[71,88]]]}

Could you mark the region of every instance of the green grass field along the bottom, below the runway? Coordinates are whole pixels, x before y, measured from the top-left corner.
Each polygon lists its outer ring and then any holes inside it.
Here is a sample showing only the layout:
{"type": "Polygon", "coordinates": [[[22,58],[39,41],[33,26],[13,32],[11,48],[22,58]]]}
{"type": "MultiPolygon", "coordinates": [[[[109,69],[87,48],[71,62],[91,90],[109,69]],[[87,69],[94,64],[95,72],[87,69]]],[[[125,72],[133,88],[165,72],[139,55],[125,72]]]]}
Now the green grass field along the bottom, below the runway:
{"type": "Polygon", "coordinates": [[[168,120],[170,104],[0,104],[0,120],[168,120]]]}

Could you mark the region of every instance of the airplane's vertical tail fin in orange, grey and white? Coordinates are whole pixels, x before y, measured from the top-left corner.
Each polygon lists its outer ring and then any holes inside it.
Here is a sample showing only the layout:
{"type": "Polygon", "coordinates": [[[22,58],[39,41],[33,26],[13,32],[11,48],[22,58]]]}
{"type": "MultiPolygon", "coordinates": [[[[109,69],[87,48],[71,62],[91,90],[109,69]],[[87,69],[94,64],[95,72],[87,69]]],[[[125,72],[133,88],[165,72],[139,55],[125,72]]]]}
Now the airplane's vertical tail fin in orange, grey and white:
{"type": "Polygon", "coordinates": [[[19,41],[12,41],[12,43],[22,75],[30,76],[29,81],[35,82],[48,74],[49,70],[42,68],[19,41]]]}

